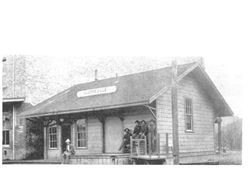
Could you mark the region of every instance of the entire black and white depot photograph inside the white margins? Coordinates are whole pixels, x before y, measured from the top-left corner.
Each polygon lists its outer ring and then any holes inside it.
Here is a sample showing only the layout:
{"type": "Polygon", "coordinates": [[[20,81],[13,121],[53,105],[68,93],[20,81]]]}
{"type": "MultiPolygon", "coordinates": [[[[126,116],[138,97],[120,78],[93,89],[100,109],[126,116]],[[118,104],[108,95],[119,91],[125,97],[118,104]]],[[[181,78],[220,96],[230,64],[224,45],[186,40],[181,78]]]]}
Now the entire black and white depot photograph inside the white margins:
{"type": "Polygon", "coordinates": [[[2,62],[3,164],[241,164],[242,119],[202,58],[2,62]]]}

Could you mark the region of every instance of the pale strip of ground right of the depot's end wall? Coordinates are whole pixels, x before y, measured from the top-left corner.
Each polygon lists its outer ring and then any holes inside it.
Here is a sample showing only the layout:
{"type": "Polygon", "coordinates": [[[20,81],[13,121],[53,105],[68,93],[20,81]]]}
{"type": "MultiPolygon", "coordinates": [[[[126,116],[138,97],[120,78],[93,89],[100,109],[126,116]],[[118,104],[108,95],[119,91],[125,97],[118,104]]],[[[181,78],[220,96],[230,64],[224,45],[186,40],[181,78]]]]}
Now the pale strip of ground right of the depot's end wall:
{"type": "Polygon", "coordinates": [[[241,151],[228,151],[221,153],[219,156],[220,165],[241,165],[242,164],[242,152],[241,151]]]}

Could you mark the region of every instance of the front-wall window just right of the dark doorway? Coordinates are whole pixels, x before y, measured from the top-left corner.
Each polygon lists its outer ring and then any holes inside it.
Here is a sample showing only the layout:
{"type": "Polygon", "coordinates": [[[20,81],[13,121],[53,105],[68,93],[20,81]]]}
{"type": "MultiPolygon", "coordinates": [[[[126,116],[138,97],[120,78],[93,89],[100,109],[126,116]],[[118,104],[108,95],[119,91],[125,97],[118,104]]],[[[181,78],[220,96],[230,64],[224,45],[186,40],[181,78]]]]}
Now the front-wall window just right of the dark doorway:
{"type": "Polygon", "coordinates": [[[77,121],[77,147],[87,147],[87,127],[85,119],[80,119],[77,121]]]}

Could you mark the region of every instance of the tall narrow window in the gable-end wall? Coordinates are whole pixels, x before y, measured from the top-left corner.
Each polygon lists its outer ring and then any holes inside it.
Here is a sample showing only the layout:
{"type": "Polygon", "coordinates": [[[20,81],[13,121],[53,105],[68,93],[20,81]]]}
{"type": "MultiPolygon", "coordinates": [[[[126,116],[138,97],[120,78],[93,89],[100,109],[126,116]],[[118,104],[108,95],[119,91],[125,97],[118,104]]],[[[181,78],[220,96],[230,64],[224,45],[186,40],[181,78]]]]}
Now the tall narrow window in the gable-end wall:
{"type": "Polygon", "coordinates": [[[185,127],[186,131],[193,131],[193,102],[192,99],[185,99],[185,127]]]}

